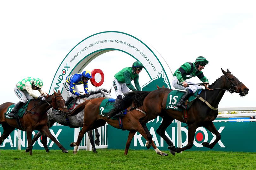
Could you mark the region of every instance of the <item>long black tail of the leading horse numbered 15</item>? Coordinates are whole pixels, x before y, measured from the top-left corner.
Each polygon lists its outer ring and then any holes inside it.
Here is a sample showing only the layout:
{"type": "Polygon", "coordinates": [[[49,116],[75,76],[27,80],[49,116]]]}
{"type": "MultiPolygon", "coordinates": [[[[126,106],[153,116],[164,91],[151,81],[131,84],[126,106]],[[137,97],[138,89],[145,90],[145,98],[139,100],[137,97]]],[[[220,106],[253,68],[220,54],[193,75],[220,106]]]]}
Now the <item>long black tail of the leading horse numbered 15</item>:
{"type": "Polygon", "coordinates": [[[114,115],[125,110],[133,104],[133,108],[128,110],[134,110],[143,105],[144,98],[150,93],[150,91],[132,91],[125,93],[125,97],[121,101],[115,104],[115,107],[107,114],[108,119],[112,118],[114,115]]]}

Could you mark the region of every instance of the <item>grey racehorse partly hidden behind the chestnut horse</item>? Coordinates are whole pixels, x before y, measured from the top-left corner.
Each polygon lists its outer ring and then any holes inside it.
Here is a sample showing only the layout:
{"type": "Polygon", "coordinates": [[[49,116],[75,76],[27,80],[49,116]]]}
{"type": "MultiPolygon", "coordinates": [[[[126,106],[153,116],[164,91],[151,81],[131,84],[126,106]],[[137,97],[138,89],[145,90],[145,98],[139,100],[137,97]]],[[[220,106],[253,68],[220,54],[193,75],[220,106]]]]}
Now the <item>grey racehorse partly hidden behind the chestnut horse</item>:
{"type": "MultiPolygon", "coordinates": [[[[111,92],[111,88],[109,91],[107,91],[106,89],[99,89],[99,90],[96,90],[96,91],[90,91],[90,96],[89,97],[86,97],[84,99],[78,97],[75,101],[75,103],[77,104],[81,104],[83,103],[84,101],[88,100],[88,99],[94,99],[94,98],[98,98],[98,97],[106,97],[106,98],[110,98],[111,95],[110,95],[110,92],[111,92]]],[[[74,108],[76,108],[77,105],[75,104],[74,108]]],[[[71,111],[74,110],[71,109],[71,111]]],[[[83,126],[83,111],[81,111],[80,113],[74,115],[74,116],[69,116],[68,119],[66,117],[66,115],[63,115],[61,112],[58,112],[58,111],[55,111],[55,110],[52,110],[52,109],[49,109],[47,111],[47,116],[48,116],[48,123],[47,123],[47,126],[49,128],[51,128],[53,126],[54,123],[59,123],[61,125],[64,125],[64,126],[70,126],[70,127],[82,127],[83,126]]],[[[34,138],[32,139],[32,144],[34,144],[37,139],[42,135],[42,132],[37,132],[37,134],[35,134],[34,138]]],[[[92,136],[92,131],[89,131],[88,133],[88,136],[90,138],[90,141],[91,139],[93,140],[93,136],[92,136]]],[[[95,129],[95,136],[96,136],[96,140],[95,140],[95,143],[97,145],[100,144],[100,134],[98,132],[98,129],[96,128],[95,129]]],[[[48,146],[47,146],[47,136],[43,134],[43,137],[42,137],[42,140],[41,140],[46,152],[50,152],[48,146]]],[[[94,151],[94,153],[97,153],[96,151],[96,148],[95,148],[95,145],[92,144],[92,146],[94,146],[92,148],[92,150],[94,151]]],[[[29,149],[27,148],[26,149],[26,152],[28,152],[29,149]]]]}

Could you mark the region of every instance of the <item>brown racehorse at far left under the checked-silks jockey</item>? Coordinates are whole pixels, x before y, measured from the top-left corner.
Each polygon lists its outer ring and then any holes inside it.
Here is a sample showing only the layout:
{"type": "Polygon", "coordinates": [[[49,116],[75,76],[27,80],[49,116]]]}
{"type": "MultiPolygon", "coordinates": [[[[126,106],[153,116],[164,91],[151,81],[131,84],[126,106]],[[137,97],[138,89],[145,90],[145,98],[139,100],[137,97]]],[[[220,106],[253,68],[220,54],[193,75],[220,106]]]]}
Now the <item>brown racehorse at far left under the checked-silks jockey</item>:
{"type": "Polygon", "coordinates": [[[14,103],[3,103],[0,105],[0,124],[3,126],[3,134],[0,137],[0,145],[6,139],[9,134],[14,131],[15,128],[27,131],[27,142],[28,142],[28,151],[32,155],[33,144],[31,143],[32,131],[38,130],[41,133],[44,133],[48,138],[50,138],[58,147],[62,150],[63,153],[68,151],[54,138],[51,134],[49,127],[47,126],[47,114],[46,111],[50,108],[57,109],[63,114],[68,113],[68,109],[65,106],[65,101],[61,96],[60,91],[56,93],[54,91],[53,95],[47,96],[45,101],[40,99],[31,100],[28,103],[27,110],[22,118],[20,118],[21,127],[17,125],[15,119],[5,118],[4,113],[7,112],[7,109],[10,105],[14,103]]]}

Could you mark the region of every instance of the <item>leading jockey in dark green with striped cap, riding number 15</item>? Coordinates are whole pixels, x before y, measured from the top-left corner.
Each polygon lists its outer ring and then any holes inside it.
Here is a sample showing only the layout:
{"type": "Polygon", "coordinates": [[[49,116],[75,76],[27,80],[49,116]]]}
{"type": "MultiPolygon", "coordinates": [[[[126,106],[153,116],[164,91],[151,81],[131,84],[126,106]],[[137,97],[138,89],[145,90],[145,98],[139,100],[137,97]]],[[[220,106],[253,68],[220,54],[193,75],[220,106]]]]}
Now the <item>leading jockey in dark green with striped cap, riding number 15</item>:
{"type": "MultiPolygon", "coordinates": [[[[180,89],[180,90],[186,90],[187,92],[185,95],[181,98],[180,102],[176,105],[177,107],[182,107],[186,109],[184,102],[188,97],[192,96],[197,89],[203,89],[203,87],[198,86],[198,85],[187,85],[193,84],[191,82],[186,81],[186,79],[190,79],[192,77],[197,76],[198,79],[200,79],[204,83],[208,83],[208,79],[204,76],[204,73],[202,70],[204,69],[205,65],[208,64],[208,61],[203,57],[199,56],[197,57],[196,61],[191,63],[191,62],[186,62],[182,66],[180,66],[179,69],[175,71],[173,74],[173,80],[172,80],[172,85],[175,89],[180,89]]],[[[207,87],[209,84],[205,84],[204,86],[207,87]]]]}

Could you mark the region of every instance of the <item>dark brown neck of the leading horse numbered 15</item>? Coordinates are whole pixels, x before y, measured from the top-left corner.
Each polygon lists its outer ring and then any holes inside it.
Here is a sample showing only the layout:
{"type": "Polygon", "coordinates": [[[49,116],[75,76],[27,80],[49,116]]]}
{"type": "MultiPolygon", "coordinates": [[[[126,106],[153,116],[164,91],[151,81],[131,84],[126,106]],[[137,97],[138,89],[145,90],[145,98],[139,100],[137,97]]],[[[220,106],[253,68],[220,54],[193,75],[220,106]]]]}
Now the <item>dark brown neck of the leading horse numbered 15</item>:
{"type": "MultiPolygon", "coordinates": [[[[220,89],[226,89],[225,77],[222,76],[220,79],[218,79],[210,87],[210,89],[217,89],[217,90],[207,90],[206,91],[206,101],[209,102],[213,107],[218,107],[218,105],[225,93],[225,90],[220,90],[220,89]]],[[[205,94],[203,93],[201,97],[204,98],[205,94]]]]}

